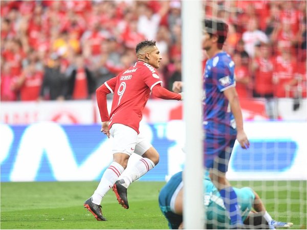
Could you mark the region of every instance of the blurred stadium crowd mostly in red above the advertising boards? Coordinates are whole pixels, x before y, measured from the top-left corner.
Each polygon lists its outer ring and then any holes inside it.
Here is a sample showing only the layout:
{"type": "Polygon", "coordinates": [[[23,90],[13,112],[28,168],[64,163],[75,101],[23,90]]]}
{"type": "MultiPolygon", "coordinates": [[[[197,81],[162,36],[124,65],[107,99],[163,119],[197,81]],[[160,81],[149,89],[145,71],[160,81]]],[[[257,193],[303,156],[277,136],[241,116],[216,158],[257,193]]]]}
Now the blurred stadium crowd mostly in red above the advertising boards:
{"type": "MultiPolygon", "coordinates": [[[[159,75],[181,80],[180,1],[1,1],[1,100],[82,100],[157,41],[159,75]]],[[[204,1],[229,24],[241,98],[306,97],[305,1],[204,1]]],[[[191,57],[192,58],[192,57],[191,57]]],[[[204,63],[206,55],[204,54],[204,63]]],[[[194,76],[191,76],[194,77],[194,76]]]]}

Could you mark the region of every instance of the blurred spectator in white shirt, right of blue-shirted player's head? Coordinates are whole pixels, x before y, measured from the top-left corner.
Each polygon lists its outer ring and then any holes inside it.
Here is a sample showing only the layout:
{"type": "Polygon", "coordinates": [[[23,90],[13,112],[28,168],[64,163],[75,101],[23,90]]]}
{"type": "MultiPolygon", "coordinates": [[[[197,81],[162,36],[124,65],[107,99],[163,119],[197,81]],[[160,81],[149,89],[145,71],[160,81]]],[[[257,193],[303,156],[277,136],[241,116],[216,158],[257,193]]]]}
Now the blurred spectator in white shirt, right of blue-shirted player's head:
{"type": "Polygon", "coordinates": [[[242,35],[242,39],[245,43],[244,49],[248,55],[253,58],[255,56],[255,45],[260,42],[269,43],[269,38],[264,32],[258,30],[257,18],[249,19],[247,29],[248,30],[242,35]]]}

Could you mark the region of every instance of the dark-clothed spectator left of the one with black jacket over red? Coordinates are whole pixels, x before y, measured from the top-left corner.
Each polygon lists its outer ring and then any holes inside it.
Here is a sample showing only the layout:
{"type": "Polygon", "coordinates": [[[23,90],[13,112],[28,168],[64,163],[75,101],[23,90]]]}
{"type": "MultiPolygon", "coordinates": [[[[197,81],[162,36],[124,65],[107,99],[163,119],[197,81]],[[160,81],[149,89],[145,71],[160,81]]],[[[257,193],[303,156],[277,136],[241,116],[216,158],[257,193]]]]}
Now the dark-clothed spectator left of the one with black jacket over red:
{"type": "Polygon", "coordinates": [[[45,67],[39,100],[64,100],[65,68],[57,54],[53,53],[50,59],[45,67]]]}

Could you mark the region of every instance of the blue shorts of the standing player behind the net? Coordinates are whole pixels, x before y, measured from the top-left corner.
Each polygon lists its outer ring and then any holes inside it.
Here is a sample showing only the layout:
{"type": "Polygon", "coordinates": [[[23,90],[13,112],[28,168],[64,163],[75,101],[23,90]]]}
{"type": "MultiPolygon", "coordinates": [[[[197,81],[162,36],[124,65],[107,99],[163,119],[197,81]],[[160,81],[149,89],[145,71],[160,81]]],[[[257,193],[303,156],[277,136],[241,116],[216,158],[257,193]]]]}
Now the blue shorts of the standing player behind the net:
{"type": "Polygon", "coordinates": [[[215,135],[206,132],[204,146],[204,166],[220,172],[228,171],[228,163],[236,140],[236,130],[230,128],[228,135],[215,135]]]}

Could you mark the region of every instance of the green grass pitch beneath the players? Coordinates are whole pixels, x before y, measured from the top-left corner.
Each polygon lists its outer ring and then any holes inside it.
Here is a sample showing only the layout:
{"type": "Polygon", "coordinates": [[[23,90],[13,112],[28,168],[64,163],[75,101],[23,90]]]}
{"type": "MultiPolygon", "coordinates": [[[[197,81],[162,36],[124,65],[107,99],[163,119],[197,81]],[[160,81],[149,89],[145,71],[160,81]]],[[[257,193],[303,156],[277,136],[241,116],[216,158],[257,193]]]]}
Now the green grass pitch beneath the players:
{"type": "MultiPolygon", "coordinates": [[[[291,181],[292,183],[298,181],[291,181]]],[[[270,183],[270,182],[266,182],[270,183]]],[[[271,182],[273,183],[273,182],[271,182]]],[[[2,182],[1,229],[168,229],[167,221],[160,212],[158,195],[165,182],[137,181],[128,189],[130,208],[123,209],[115,195],[109,191],[102,201],[102,212],[107,221],[96,221],[83,208],[83,202],[98,185],[93,182],[2,182]]],[[[242,183],[241,183],[242,184],[242,183]]],[[[298,184],[299,186],[302,183],[298,184]]],[[[306,182],[303,182],[306,191],[306,182]]],[[[257,191],[259,192],[259,191],[257,191]]],[[[273,192],[272,192],[273,193],[273,192]]],[[[261,195],[261,193],[259,193],[261,195]]],[[[282,194],[280,194],[282,196],[282,194]]],[[[273,194],[266,194],[266,197],[273,194]]],[[[298,212],[304,205],[303,216],[291,216],[292,228],[306,225],[306,193],[293,193],[301,203],[293,205],[298,212]]],[[[285,204],[286,205],[286,204],[285,204]]],[[[267,209],[274,210],[273,204],[267,209]]],[[[287,206],[279,206],[285,211],[287,206]]],[[[279,217],[286,221],[289,217],[279,217]]]]}

